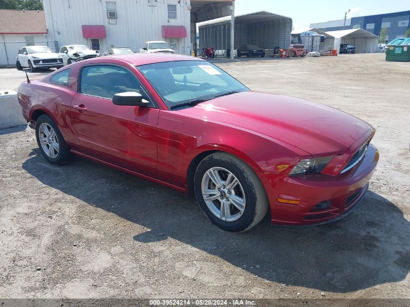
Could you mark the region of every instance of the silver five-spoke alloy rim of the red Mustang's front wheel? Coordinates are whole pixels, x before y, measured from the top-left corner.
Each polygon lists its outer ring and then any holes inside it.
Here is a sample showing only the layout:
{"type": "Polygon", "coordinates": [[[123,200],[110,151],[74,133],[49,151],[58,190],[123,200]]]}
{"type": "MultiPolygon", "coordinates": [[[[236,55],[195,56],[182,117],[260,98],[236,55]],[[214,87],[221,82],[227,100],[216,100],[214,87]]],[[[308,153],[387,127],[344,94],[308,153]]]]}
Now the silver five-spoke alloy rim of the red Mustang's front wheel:
{"type": "Polygon", "coordinates": [[[201,188],[209,210],[222,221],[236,221],[244,213],[244,189],[229,170],[223,167],[210,168],[202,178],[201,188]]]}

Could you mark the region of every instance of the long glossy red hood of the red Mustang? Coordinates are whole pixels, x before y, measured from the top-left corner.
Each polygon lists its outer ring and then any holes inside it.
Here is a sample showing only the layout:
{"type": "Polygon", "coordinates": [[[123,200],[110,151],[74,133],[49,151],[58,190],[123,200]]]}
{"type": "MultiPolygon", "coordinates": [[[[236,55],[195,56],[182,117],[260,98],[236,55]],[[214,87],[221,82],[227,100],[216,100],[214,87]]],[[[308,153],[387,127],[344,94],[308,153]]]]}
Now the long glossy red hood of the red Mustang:
{"type": "Polygon", "coordinates": [[[262,133],[311,155],[342,154],[371,128],[319,103],[259,92],[231,94],[179,112],[262,133]]]}

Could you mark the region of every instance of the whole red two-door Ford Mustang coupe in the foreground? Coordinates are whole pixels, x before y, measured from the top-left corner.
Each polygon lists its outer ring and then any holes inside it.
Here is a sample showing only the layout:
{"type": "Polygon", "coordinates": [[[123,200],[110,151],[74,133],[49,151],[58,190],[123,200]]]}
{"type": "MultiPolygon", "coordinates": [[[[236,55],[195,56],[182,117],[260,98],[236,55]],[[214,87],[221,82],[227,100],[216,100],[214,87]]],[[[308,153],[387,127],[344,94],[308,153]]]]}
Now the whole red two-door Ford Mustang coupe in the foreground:
{"type": "Polygon", "coordinates": [[[310,101],[258,93],[206,61],[129,54],[18,89],[51,163],[71,154],[195,194],[217,226],[310,225],[350,212],[378,161],[375,129],[310,101]]]}

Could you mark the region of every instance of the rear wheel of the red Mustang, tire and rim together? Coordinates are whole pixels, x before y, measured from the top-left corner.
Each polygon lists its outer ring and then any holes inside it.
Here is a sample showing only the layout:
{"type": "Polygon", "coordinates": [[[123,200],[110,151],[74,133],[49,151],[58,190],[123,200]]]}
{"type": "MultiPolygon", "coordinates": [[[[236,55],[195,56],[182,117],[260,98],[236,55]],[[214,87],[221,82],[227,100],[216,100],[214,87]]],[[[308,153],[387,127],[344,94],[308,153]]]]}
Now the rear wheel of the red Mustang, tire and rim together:
{"type": "Polygon", "coordinates": [[[35,136],[37,145],[48,162],[62,164],[70,159],[70,148],[49,115],[43,114],[38,117],[35,136]]]}

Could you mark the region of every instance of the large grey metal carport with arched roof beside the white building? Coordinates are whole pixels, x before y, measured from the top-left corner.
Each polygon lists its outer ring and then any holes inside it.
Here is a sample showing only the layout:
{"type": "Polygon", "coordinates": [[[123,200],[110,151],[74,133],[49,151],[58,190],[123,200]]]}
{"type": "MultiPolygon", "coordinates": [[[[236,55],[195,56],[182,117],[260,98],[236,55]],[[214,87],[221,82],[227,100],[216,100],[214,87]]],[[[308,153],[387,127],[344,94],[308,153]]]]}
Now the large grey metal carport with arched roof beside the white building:
{"type": "MultiPolygon", "coordinates": [[[[199,50],[213,48],[217,56],[230,53],[230,17],[198,24],[199,50]],[[227,52],[228,51],[228,52],[227,52]]],[[[292,18],[266,11],[235,16],[234,49],[244,44],[257,45],[266,50],[289,48],[292,18]]],[[[266,53],[268,54],[268,52],[266,53]]]]}

